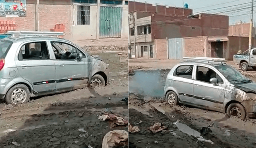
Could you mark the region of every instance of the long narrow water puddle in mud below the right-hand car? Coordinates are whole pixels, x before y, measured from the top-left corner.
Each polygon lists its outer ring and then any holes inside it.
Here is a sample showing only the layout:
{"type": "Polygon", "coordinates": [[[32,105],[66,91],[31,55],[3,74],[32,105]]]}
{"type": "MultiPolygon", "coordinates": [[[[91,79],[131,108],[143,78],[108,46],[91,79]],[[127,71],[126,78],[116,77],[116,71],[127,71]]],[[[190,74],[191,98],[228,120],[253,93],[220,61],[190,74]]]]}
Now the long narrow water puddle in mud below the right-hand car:
{"type": "Polygon", "coordinates": [[[186,124],[180,123],[179,121],[180,120],[177,120],[173,124],[175,124],[181,132],[184,132],[184,133],[188,134],[189,136],[194,136],[194,137],[198,138],[199,141],[210,142],[211,144],[214,144],[214,142],[212,142],[211,140],[204,139],[204,137],[201,136],[200,132],[190,128],[186,124]]]}

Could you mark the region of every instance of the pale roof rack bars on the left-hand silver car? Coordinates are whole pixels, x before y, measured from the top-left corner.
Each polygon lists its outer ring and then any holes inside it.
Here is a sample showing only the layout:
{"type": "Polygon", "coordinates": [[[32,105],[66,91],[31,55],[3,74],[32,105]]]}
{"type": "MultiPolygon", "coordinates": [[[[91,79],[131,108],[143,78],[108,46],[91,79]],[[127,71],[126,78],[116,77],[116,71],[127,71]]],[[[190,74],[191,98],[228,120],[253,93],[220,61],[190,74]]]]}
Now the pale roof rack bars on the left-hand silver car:
{"type": "Polygon", "coordinates": [[[26,36],[64,36],[64,32],[33,32],[33,31],[8,31],[5,33],[12,37],[26,37],[26,36]]]}

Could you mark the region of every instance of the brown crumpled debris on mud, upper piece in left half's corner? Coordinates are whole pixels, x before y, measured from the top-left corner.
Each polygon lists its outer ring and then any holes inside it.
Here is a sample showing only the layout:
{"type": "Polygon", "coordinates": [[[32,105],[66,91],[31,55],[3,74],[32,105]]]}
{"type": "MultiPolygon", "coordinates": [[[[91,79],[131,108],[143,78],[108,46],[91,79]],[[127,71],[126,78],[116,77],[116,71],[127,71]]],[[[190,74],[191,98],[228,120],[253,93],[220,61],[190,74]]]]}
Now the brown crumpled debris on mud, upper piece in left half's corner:
{"type": "Polygon", "coordinates": [[[102,121],[110,120],[110,121],[113,121],[117,125],[128,124],[128,120],[124,119],[121,116],[116,116],[114,114],[103,114],[102,116],[99,116],[98,119],[100,119],[102,121]]]}

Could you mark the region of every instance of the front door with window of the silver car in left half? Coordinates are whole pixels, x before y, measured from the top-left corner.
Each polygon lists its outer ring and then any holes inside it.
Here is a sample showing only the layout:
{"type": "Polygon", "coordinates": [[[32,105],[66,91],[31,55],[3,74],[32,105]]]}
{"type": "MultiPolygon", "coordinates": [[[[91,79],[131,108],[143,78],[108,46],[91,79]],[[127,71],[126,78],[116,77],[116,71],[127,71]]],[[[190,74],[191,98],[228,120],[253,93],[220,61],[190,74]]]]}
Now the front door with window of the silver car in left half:
{"type": "Polygon", "coordinates": [[[89,78],[86,54],[65,41],[51,41],[51,45],[55,53],[56,91],[85,87],[89,78]]]}

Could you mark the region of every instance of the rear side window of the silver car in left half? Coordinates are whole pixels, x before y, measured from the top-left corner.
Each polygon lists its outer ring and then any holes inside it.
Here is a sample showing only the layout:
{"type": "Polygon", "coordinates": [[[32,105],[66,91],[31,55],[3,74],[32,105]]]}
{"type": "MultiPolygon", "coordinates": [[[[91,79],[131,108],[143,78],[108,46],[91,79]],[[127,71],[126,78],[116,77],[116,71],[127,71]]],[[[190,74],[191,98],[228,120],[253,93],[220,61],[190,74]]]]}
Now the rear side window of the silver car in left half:
{"type": "Polygon", "coordinates": [[[18,59],[50,59],[46,42],[32,42],[22,45],[22,47],[20,48],[18,59]]]}

